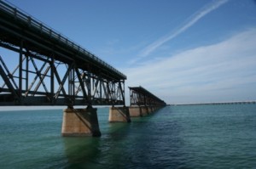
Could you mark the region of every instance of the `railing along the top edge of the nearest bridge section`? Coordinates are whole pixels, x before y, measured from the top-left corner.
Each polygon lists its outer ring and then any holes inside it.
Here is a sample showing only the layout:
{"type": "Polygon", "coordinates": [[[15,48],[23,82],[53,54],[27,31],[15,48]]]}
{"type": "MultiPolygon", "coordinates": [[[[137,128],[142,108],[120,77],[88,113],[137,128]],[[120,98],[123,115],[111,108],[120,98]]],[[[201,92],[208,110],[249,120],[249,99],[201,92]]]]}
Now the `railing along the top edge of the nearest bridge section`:
{"type": "Polygon", "coordinates": [[[13,15],[13,17],[15,17],[16,20],[20,20],[21,22],[26,23],[26,25],[32,26],[34,29],[37,29],[38,31],[48,35],[50,38],[54,39],[55,41],[66,44],[69,48],[73,48],[79,53],[90,57],[90,59],[93,59],[97,63],[104,65],[105,67],[108,67],[109,70],[113,70],[115,73],[119,74],[120,76],[123,76],[126,79],[126,76],[123,73],[121,73],[119,70],[114,69],[113,66],[108,65],[102,59],[99,59],[98,57],[96,57],[95,54],[91,54],[88,50],[81,48],[75,42],[71,41],[67,37],[62,36],[61,33],[58,33],[57,31],[50,28],[49,26],[46,26],[42,22],[32,18],[32,16],[25,14],[25,12],[20,12],[21,10],[20,9],[18,10],[12,4],[0,1],[0,8],[4,12],[13,15]]]}

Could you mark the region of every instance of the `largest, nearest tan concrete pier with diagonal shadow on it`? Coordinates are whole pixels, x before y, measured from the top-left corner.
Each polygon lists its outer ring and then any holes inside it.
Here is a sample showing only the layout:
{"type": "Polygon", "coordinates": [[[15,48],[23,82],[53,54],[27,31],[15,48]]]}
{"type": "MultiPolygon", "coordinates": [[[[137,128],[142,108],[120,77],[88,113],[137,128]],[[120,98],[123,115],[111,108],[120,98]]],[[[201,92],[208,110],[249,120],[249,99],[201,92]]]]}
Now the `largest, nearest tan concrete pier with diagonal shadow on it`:
{"type": "Polygon", "coordinates": [[[63,110],[62,136],[93,136],[100,137],[96,108],[63,110]]]}

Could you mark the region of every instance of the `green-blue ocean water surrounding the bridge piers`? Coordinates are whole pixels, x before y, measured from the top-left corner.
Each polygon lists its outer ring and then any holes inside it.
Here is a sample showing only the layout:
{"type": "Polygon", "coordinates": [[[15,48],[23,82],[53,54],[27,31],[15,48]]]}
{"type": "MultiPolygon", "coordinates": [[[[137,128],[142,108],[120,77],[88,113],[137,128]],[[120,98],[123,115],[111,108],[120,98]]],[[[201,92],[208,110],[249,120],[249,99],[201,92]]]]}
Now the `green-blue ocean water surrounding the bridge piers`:
{"type": "Polygon", "coordinates": [[[63,138],[62,110],[0,111],[0,168],[256,168],[256,104],[97,112],[101,138],[63,138]]]}

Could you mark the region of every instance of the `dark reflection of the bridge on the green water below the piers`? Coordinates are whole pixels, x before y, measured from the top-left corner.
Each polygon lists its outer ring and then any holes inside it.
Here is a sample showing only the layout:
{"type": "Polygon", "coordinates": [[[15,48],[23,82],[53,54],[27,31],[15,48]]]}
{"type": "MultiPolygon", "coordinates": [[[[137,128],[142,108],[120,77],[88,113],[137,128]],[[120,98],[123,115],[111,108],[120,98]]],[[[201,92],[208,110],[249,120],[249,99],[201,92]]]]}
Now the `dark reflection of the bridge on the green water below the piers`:
{"type": "Polygon", "coordinates": [[[167,109],[131,123],[102,122],[101,138],[64,138],[68,168],[186,166],[183,126],[168,113],[167,109]]]}

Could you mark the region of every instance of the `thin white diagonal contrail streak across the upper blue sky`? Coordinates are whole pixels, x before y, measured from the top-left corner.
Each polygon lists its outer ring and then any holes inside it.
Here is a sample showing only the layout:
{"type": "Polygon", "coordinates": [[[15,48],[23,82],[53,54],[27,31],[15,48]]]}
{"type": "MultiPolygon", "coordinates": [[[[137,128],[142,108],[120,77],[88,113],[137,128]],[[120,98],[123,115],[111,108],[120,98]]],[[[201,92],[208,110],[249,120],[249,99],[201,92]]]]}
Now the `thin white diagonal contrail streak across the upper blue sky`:
{"type": "Polygon", "coordinates": [[[159,48],[162,44],[165,42],[168,42],[172,40],[174,37],[177,37],[179,34],[181,34],[183,31],[186,31],[191,27],[192,25],[195,25],[195,23],[201,18],[205,17],[207,14],[211,13],[213,10],[219,8],[220,6],[224,5],[224,3],[228,3],[229,0],[216,0],[212,3],[208,3],[205,7],[201,8],[199,11],[197,11],[195,14],[192,14],[187,22],[184,23],[183,26],[181,26],[177,31],[174,31],[164,37],[160,37],[155,42],[152,42],[149,44],[146,48],[144,48],[139,55],[141,58],[148,56],[148,54],[151,54],[154,52],[156,48],[159,48]]]}

